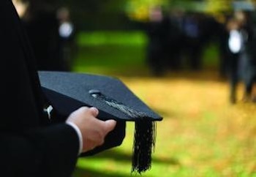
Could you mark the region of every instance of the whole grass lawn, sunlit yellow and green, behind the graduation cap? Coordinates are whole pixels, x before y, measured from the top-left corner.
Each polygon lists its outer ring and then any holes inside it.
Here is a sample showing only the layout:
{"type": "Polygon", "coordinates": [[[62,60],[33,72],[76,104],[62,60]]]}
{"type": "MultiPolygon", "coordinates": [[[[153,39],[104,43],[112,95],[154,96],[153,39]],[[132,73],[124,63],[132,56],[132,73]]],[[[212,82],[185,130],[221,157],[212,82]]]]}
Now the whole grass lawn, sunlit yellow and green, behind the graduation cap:
{"type": "MultiPolygon", "coordinates": [[[[129,35],[134,41],[143,40],[137,33],[129,35]]],[[[142,176],[256,176],[256,107],[243,102],[230,105],[228,84],[216,71],[184,71],[154,78],[144,62],[145,42],[125,45],[113,39],[110,45],[92,45],[83,42],[87,41],[84,38],[74,71],[120,78],[164,117],[157,124],[151,170],[142,176]]],[[[205,64],[216,64],[216,53],[206,53],[209,60],[205,64]]],[[[243,86],[238,89],[241,98],[243,86]]],[[[133,130],[134,124],[128,123],[121,146],[80,158],[73,177],[131,176],[133,130]]]]}

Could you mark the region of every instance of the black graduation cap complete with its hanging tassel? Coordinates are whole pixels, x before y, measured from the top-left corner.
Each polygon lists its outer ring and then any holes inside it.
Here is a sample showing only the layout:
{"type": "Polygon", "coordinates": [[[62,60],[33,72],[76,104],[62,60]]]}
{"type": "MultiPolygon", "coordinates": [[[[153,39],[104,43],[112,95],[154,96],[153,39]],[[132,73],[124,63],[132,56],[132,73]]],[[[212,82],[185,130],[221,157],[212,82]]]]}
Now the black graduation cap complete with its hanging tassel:
{"type": "Polygon", "coordinates": [[[162,117],[149,108],[118,78],[75,72],[39,71],[42,91],[50,104],[68,116],[81,106],[99,109],[99,119],[135,121],[132,172],[151,167],[156,121],[162,117]]]}

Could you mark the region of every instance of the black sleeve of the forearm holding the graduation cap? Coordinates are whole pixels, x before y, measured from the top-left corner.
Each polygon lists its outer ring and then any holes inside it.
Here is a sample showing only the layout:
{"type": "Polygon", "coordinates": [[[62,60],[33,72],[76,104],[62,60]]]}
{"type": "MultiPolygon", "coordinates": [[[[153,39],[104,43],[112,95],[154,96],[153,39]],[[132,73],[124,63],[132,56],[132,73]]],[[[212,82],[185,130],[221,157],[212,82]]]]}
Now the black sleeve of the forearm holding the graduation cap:
{"type": "Polygon", "coordinates": [[[67,124],[0,133],[1,176],[69,177],[78,157],[78,136],[67,124]]]}

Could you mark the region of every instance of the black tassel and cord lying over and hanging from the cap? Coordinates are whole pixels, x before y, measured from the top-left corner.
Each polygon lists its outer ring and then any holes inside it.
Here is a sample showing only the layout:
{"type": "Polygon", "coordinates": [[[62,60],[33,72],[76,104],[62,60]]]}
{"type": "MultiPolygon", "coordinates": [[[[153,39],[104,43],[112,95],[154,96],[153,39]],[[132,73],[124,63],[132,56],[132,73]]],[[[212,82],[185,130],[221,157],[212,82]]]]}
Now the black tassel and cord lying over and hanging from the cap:
{"type": "Polygon", "coordinates": [[[151,121],[146,113],[140,112],[127,105],[117,102],[115,99],[107,97],[99,92],[93,92],[92,97],[101,99],[135,120],[135,137],[132,154],[132,172],[142,173],[151,168],[151,154],[154,151],[156,140],[156,123],[151,121]]]}

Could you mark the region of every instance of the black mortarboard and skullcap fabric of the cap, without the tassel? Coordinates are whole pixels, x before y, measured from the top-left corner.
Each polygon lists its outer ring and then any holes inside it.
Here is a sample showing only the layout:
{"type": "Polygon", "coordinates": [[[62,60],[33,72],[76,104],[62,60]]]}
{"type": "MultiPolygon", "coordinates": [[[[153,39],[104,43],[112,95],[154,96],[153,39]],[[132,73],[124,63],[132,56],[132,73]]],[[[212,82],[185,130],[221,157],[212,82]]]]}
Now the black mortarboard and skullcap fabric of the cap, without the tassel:
{"type": "Polygon", "coordinates": [[[104,96],[103,99],[120,102],[152,121],[162,120],[161,116],[148,108],[117,78],[85,73],[40,71],[39,80],[53,107],[64,115],[69,115],[80,106],[86,105],[98,108],[100,110],[99,118],[102,119],[121,118],[126,121],[135,121],[135,117],[106,104],[102,98],[93,97],[91,92],[99,91],[104,96]]]}

